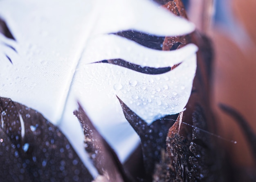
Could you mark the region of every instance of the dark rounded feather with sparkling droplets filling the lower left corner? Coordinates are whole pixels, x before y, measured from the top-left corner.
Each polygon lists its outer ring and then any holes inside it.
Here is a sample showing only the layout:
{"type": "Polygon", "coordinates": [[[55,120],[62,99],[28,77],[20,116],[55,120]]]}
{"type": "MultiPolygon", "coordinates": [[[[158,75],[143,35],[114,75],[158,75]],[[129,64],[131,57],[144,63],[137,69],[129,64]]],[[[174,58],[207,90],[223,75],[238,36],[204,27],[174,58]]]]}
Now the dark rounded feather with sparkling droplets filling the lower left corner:
{"type": "Polygon", "coordinates": [[[40,113],[0,97],[1,181],[92,181],[67,138],[40,113]]]}

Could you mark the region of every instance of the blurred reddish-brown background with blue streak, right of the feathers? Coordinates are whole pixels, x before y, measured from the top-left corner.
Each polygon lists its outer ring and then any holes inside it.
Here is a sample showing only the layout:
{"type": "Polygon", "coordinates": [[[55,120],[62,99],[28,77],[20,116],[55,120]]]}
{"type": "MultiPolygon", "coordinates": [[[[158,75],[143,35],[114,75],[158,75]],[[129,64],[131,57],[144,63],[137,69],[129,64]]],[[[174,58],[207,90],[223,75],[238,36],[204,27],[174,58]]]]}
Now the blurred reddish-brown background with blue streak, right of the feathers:
{"type": "Polygon", "coordinates": [[[235,108],[256,133],[256,1],[184,0],[189,19],[211,38],[214,48],[212,106],[218,134],[235,140],[225,146],[240,167],[254,160],[242,130],[218,104],[235,108]]]}

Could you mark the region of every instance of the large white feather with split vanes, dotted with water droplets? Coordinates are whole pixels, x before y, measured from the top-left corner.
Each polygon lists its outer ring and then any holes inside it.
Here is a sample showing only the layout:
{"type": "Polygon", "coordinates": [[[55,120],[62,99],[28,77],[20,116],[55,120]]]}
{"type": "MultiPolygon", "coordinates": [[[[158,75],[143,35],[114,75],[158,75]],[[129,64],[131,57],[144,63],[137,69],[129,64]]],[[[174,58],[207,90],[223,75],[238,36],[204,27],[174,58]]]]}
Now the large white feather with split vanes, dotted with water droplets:
{"type": "MultiPolygon", "coordinates": [[[[32,107],[58,124],[84,162],[87,155],[83,132],[72,113],[77,109],[77,100],[124,161],[139,139],[125,120],[115,95],[148,123],[181,112],[189,99],[196,68],[194,45],[177,51],[157,51],[107,35],[136,29],[174,36],[194,30],[190,22],[150,1],[2,0],[0,16],[15,36],[18,51],[8,52],[13,64],[1,60],[0,96],[32,107]],[[142,66],[184,62],[162,75],[145,75],[110,64],[88,64],[120,57],[142,66]],[[121,89],[117,89],[120,85],[121,89]]],[[[9,40],[2,37],[0,41],[9,40]]]]}

